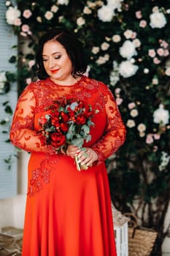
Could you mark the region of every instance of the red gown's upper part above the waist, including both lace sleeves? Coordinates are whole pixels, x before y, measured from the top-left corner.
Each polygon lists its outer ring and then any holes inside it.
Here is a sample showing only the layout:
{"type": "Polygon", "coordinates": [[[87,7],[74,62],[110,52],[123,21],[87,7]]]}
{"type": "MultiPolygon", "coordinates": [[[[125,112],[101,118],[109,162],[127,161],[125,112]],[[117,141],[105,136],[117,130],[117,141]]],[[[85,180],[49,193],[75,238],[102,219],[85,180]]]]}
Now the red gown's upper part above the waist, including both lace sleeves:
{"type": "Polygon", "coordinates": [[[72,86],[57,85],[50,78],[30,83],[20,95],[15,109],[10,131],[12,144],[29,152],[55,154],[52,146],[41,144],[37,132],[38,117],[53,100],[68,94],[98,110],[93,116],[92,140],[85,146],[98,153],[98,162],[104,161],[123,144],[125,126],[111,91],[104,83],[86,76],[72,86]]]}

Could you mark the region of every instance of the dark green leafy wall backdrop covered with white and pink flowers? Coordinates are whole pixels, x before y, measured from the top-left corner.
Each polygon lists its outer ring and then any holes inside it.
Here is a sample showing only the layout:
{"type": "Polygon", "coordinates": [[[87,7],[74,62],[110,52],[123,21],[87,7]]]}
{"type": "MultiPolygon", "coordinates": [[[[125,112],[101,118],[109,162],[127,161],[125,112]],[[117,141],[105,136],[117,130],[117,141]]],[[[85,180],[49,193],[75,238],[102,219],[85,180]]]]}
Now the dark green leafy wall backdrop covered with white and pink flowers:
{"type": "Polygon", "coordinates": [[[18,65],[19,93],[36,80],[34,55],[44,31],[66,26],[80,37],[88,74],[112,90],[127,127],[124,146],[107,161],[112,200],[158,231],[154,250],[161,252],[170,235],[170,223],[163,228],[170,200],[170,0],[5,4],[19,38],[18,56],[9,59],[18,65]]]}

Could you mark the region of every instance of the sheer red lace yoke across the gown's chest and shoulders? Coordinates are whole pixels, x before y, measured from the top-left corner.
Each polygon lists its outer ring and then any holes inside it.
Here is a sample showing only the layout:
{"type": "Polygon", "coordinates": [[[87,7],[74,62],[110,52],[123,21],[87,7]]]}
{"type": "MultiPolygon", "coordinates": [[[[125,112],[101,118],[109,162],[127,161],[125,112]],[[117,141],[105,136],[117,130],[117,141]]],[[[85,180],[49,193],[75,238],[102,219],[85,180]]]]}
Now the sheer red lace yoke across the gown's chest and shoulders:
{"type": "Polygon", "coordinates": [[[59,86],[50,79],[32,83],[31,91],[36,97],[36,113],[41,112],[45,106],[63,95],[74,95],[75,98],[93,104],[93,108],[103,110],[106,104],[104,95],[108,89],[103,83],[82,76],[82,79],[74,86],[59,86]],[[94,95],[96,94],[96,97],[94,95]]]}

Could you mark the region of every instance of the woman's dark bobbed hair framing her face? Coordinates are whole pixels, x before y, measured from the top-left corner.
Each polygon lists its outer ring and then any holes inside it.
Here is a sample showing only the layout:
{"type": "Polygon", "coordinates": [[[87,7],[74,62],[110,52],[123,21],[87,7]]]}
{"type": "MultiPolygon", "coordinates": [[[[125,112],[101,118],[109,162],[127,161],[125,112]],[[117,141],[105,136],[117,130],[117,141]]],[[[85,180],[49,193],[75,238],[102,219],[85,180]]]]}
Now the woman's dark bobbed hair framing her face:
{"type": "Polygon", "coordinates": [[[82,75],[87,69],[87,61],[83,52],[82,44],[77,39],[76,34],[68,29],[54,28],[47,31],[39,40],[38,50],[36,53],[36,61],[38,64],[39,79],[48,78],[42,61],[42,51],[46,42],[56,40],[66,49],[69,59],[72,61],[72,76],[76,78],[82,75]]]}

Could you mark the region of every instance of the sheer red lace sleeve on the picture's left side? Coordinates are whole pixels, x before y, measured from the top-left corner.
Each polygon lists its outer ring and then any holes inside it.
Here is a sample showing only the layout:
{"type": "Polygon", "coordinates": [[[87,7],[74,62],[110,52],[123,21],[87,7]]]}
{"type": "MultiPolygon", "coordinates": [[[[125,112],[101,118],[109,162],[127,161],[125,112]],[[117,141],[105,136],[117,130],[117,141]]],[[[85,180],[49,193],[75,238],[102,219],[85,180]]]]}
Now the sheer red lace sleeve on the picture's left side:
{"type": "Polygon", "coordinates": [[[34,131],[36,99],[31,86],[33,83],[26,87],[18,99],[10,129],[10,140],[14,146],[25,151],[52,154],[53,148],[42,146],[39,135],[34,131]]]}

